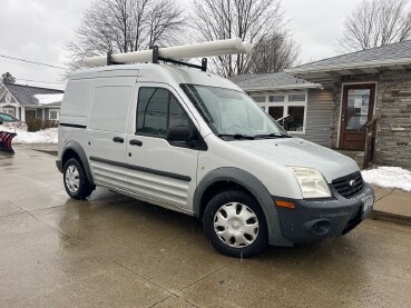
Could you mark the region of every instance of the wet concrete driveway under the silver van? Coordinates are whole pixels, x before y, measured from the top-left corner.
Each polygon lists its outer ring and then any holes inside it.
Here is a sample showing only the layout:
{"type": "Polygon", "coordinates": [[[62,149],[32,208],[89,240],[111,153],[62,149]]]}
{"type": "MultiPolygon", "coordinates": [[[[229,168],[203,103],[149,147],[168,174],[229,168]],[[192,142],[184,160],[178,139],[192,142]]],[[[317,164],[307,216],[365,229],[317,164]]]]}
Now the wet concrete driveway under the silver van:
{"type": "Polygon", "coordinates": [[[98,189],[69,199],[55,157],[0,153],[0,307],[410,307],[411,228],[218,255],[194,218],[98,189]]]}

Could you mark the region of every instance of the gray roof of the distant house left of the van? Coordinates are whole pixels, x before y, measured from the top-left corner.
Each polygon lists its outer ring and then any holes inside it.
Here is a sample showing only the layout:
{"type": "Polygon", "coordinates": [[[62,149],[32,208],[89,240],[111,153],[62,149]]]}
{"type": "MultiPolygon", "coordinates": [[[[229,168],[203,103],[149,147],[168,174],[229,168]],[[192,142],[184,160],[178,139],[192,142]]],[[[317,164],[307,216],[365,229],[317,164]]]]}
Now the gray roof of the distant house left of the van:
{"type": "MultiPolygon", "coordinates": [[[[59,95],[63,93],[62,90],[39,88],[22,85],[3,85],[6,89],[18,100],[20,105],[40,105],[39,99],[36,98],[38,95],[59,95]]],[[[61,102],[52,103],[60,105],[61,102]]]]}

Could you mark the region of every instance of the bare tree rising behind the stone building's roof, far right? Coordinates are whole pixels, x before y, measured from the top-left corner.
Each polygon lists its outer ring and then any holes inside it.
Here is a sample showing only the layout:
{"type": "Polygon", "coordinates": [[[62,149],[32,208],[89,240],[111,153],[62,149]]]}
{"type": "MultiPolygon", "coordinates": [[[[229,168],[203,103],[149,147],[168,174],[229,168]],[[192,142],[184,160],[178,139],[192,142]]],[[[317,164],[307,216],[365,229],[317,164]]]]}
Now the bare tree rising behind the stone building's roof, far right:
{"type": "Polygon", "coordinates": [[[344,23],[336,49],[352,52],[411,38],[409,0],[363,0],[344,23]]]}

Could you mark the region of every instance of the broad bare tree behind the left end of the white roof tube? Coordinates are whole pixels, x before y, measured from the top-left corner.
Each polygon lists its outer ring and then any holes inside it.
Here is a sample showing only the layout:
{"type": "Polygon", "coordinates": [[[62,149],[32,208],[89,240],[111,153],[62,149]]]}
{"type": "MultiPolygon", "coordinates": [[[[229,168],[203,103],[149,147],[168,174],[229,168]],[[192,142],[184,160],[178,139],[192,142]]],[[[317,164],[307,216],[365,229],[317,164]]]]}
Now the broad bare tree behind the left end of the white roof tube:
{"type": "Polygon", "coordinates": [[[70,52],[67,73],[81,68],[86,57],[167,46],[184,27],[183,10],[167,0],[96,0],[75,38],[65,43],[70,52]]]}

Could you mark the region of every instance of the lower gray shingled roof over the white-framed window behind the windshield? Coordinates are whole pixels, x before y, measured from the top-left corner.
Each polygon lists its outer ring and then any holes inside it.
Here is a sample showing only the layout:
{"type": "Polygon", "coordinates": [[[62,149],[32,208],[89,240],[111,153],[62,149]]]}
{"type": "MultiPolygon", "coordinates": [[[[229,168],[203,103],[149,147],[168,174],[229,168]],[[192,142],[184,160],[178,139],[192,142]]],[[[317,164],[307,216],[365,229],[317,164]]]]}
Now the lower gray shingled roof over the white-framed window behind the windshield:
{"type": "Polygon", "coordinates": [[[239,74],[228,78],[244,91],[320,88],[321,85],[295,78],[286,72],[239,74]]]}

